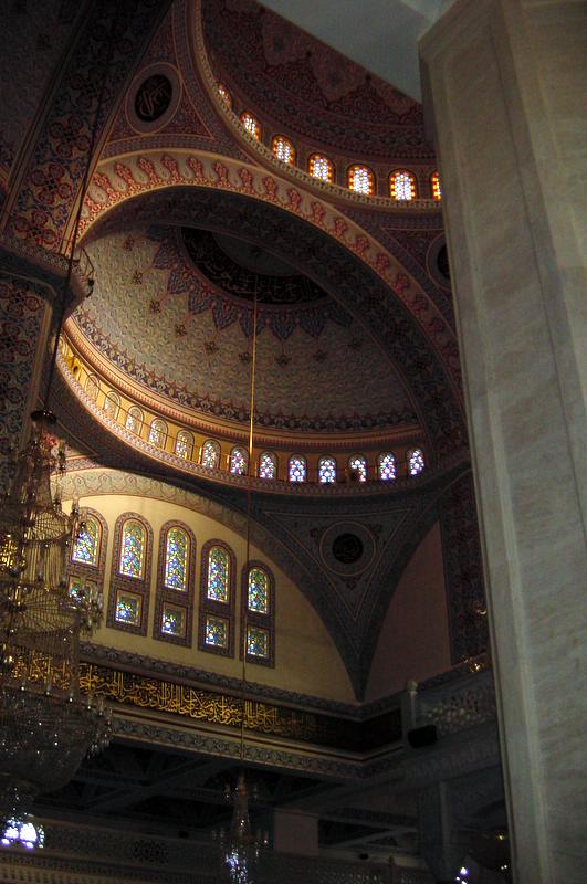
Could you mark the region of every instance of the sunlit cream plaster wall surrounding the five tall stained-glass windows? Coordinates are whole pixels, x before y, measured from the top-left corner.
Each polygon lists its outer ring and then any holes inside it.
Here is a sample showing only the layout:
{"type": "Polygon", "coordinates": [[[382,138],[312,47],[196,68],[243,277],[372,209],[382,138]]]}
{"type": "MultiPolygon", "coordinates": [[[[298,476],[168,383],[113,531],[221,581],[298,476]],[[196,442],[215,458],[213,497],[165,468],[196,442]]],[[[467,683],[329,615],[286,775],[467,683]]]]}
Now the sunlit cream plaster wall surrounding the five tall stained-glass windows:
{"type": "MultiPolygon", "coordinates": [[[[218,656],[197,648],[198,591],[200,586],[200,550],[212,538],[226,541],[237,557],[237,611],[240,610],[240,573],[245,560],[245,540],[231,528],[201,513],[160,499],[105,494],[84,496],[81,506],[96,509],[108,525],[106,559],[105,603],[109,589],[114,526],[116,518],[125,512],[141,515],[154,532],[154,559],[149,621],[146,636],[135,635],[103,625],[92,641],[111,648],[132,650],[146,656],[159,657],[185,665],[197,666],[222,675],[241,677],[242,666],[237,659],[218,656]],[[181,648],[170,642],[151,638],[155,614],[155,588],[157,579],[157,546],[159,530],[169,519],[188,525],[197,539],[196,597],[193,611],[192,646],[181,648]]],[[[312,694],[331,699],[353,703],[350,682],[338,652],[321,619],[297,587],[259,549],[251,545],[251,558],[266,561],[275,578],[275,667],[248,663],[247,678],[289,691],[312,694]]],[[[104,618],[105,620],[105,618],[104,618]]],[[[237,632],[237,648],[239,633],[237,632]]],[[[238,651],[237,651],[238,655],[238,651]]]]}

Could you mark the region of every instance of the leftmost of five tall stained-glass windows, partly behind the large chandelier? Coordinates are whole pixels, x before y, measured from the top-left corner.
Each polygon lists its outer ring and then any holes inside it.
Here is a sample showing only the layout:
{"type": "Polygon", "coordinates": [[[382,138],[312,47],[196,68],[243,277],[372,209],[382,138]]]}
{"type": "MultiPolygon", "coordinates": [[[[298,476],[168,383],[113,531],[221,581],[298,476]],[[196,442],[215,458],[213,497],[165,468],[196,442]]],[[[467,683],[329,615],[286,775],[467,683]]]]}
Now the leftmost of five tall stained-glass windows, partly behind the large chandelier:
{"type": "Polygon", "coordinates": [[[83,606],[93,602],[97,614],[82,617],[83,627],[95,628],[102,620],[104,571],[108,527],[95,509],[83,511],[83,522],[72,546],[67,567],[67,588],[71,598],[83,606]]]}

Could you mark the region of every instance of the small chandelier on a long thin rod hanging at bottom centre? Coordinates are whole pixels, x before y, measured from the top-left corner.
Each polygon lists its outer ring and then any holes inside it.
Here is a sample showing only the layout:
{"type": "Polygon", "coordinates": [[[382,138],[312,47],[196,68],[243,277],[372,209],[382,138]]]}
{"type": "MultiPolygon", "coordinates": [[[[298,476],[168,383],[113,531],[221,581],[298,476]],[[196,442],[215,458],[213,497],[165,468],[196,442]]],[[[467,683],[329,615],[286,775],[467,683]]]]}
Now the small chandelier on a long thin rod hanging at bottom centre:
{"type": "MultiPolygon", "coordinates": [[[[253,480],[253,428],[255,407],[255,371],[256,371],[256,324],[258,324],[258,293],[256,284],[253,299],[253,334],[251,345],[251,396],[249,417],[249,482],[247,485],[247,546],[245,546],[245,573],[249,573],[251,559],[251,519],[252,519],[252,480],[253,480]]],[[[247,583],[248,585],[248,583],[247,583]]],[[[248,606],[243,604],[243,622],[241,635],[242,650],[242,691],[241,691],[241,722],[240,722],[240,762],[244,765],[244,716],[247,693],[247,619],[248,606]]],[[[244,769],[241,769],[237,783],[226,786],[224,798],[232,803],[230,829],[220,831],[220,859],[224,872],[231,884],[254,884],[255,870],[259,865],[261,853],[269,844],[266,832],[254,831],[251,827],[249,812],[250,791],[247,786],[244,769]]]]}

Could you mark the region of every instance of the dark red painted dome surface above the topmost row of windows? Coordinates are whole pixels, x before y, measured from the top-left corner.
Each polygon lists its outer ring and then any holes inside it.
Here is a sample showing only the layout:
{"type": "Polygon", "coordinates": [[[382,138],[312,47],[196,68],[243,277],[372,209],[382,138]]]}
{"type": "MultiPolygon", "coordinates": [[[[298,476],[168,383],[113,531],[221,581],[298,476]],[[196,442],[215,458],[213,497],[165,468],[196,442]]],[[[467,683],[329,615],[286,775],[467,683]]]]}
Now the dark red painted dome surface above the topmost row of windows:
{"type": "Polygon", "coordinates": [[[203,0],[217,78],[311,144],[361,159],[433,159],[418,102],[253,0],[203,0]]]}

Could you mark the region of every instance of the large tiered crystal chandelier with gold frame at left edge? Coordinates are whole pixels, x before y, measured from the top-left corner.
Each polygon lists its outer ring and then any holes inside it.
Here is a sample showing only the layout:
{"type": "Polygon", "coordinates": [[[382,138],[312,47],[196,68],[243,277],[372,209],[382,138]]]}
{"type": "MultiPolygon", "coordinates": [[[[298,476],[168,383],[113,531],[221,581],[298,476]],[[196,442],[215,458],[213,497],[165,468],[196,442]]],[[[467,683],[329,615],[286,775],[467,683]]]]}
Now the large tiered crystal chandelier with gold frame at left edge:
{"type": "Polygon", "coordinates": [[[103,705],[80,694],[86,612],[65,581],[78,514],[66,515],[51,494],[65,452],[55,452],[53,415],[32,417],[0,509],[0,812],[11,831],[34,797],[67,782],[109,733],[103,705]]]}

